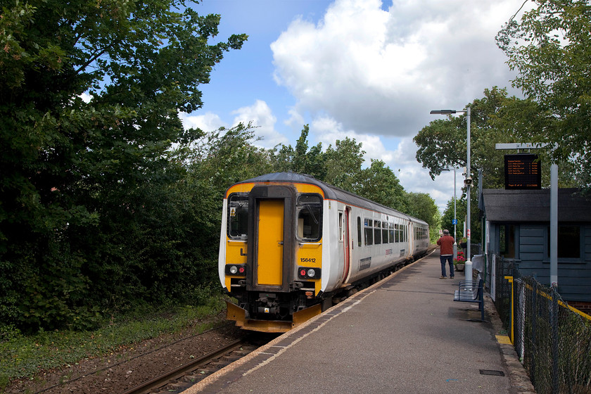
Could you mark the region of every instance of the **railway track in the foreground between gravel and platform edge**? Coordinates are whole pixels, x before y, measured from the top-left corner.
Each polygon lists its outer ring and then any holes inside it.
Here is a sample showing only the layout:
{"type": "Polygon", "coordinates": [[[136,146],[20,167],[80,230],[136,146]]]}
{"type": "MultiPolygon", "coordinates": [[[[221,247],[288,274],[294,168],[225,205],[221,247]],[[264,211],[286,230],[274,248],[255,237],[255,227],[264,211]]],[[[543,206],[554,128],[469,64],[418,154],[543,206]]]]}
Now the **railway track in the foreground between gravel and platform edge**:
{"type": "Polygon", "coordinates": [[[180,393],[259,347],[248,338],[236,340],[122,394],[180,393]]]}

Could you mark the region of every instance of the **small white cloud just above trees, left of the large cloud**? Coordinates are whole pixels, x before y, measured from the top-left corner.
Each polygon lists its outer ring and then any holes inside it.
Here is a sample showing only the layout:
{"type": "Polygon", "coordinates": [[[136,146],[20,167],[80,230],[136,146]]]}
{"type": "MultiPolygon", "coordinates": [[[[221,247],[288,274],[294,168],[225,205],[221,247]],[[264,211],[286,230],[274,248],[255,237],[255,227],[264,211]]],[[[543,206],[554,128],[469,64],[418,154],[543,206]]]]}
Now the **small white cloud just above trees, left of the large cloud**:
{"type": "Polygon", "coordinates": [[[288,144],[288,139],[275,130],[277,117],[273,115],[271,108],[265,101],[257,100],[252,106],[239,108],[232,113],[236,115],[234,126],[240,122],[245,125],[252,122],[255,127],[255,135],[262,137],[260,141],[255,142],[255,145],[272,148],[277,144],[288,144]]]}

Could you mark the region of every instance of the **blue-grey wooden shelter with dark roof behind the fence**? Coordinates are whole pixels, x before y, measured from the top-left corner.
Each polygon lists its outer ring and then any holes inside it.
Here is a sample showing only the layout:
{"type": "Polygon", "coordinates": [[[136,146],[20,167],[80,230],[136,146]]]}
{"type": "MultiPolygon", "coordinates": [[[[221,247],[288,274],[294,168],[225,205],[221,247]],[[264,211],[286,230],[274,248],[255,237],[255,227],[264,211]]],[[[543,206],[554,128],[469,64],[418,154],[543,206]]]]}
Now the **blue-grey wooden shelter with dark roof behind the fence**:
{"type": "MultiPolygon", "coordinates": [[[[523,276],[549,286],[550,191],[484,189],[485,250],[519,260],[523,276]]],[[[574,307],[591,307],[591,201],[577,189],[558,193],[558,291],[574,307]]]]}

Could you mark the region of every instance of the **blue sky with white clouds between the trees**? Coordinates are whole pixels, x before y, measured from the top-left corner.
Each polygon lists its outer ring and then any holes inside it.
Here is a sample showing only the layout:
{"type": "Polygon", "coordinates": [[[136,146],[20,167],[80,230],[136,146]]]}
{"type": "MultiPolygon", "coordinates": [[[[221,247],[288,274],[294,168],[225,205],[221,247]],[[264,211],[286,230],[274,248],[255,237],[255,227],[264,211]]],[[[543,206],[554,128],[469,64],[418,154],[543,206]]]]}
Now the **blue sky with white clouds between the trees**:
{"type": "MultiPolygon", "coordinates": [[[[453,173],[432,181],[412,138],[436,116],[462,110],[486,88],[511,89],[514,74],[495,35],[523,0],[205,0],[222,15],[218,39],[248,34],[201,86],[204,106],[184,114],[205,131],[253,122],[260,146],[310,146],[345,136],[383,160],[406,191],[429,193],[443,210],[453,173]]],[[[462,183],[457,173],[459,187],[462,183]]],[[[459,193],[459,189],[458,189],[459,193]]]]}

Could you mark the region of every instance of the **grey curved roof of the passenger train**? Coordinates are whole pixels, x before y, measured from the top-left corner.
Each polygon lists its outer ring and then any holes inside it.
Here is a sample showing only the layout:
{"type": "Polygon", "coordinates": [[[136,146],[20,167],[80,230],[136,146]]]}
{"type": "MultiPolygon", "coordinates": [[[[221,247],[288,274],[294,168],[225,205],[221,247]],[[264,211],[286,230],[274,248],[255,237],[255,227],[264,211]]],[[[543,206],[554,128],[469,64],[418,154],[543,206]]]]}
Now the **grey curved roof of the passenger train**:
{"type": "Polygon", "coordinates": [[[346,191],[340,189],[336,186],[332,186],[327,184],[326,182],[322,182],[319,179],[312,177],[311,175],[306,174],[298,174],[297,172],[272,172],[270,174],[260,175],[259,177],[254,177],[251,179],[246,179],[242,182],[237,182],[237,184],[246,184],[246,183],[258,183],[258,182],[280,182],[280,183],[300,183],[300,184],[313,184],[318,186],[324,192],[325,198],[329,198],[331,200],[338,200],[344,201],[347,203],[351,203],[352,205],[357,205],[362,208],[367,208],[375,211],[383,211],[384,208],[390,211],[397,212],[399,215],[406,217],[408,220],[412,222],[427,224],[424,220],[420,220],[417,217],[412,217],[407,215],[404,212],[400,212],[399,210],[395,210],[394,208],[390,208],[386,205],[381,205],[374,201],[368,200],[367,198],[357,196],[357,194],[351,193],[350,191],[346,191]]]}

